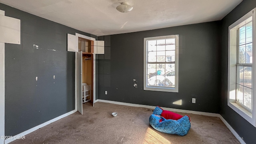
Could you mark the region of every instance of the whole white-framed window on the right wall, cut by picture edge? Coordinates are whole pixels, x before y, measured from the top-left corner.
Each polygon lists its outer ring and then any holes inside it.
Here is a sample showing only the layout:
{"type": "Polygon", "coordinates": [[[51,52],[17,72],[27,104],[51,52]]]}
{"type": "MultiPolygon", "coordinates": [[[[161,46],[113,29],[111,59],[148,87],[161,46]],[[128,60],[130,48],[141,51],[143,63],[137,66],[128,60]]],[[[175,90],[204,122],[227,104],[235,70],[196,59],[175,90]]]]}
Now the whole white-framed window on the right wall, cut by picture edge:
{"type": "Polygon", "coordinates": [[[229,26],[228,106],[256,127],[255,8],[229,26]]]}

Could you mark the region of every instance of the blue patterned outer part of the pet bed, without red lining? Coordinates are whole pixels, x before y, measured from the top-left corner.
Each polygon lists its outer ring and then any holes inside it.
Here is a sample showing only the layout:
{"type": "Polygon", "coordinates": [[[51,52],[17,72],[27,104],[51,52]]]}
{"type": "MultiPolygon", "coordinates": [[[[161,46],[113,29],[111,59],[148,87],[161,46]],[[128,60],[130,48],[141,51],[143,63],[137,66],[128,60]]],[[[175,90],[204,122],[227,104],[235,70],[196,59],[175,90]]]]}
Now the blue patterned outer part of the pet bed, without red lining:
{"type": "Polygon", "coordinates": [[[153,114],[149,117],[149,123],[154,129],[159,132],[177,134],[179,136],[188,134],[188,130],[190,129],[190,119],[188,116],[183,116],[178,120],[166,120],[161,116],[162,112],[163,110],[157,106],[153,114]]]}

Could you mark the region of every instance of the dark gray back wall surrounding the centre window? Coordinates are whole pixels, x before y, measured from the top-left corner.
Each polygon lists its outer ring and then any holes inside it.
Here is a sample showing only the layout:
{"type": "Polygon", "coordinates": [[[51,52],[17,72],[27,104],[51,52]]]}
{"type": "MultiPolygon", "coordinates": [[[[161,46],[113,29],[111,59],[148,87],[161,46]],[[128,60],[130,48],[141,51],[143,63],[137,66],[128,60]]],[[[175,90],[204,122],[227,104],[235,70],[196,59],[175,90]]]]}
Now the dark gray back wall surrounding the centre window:
{"type": "Polygon", "coordinates": [[[215,21],[99,37],[105,54],[98,59],[98,98],[219,113],[219,30],[215,21]],[[179,35],[179,92],[143,90],[143,38],[173,34],[179,35]],[[181,106],[172,104],[177,100],[181,106]]]}

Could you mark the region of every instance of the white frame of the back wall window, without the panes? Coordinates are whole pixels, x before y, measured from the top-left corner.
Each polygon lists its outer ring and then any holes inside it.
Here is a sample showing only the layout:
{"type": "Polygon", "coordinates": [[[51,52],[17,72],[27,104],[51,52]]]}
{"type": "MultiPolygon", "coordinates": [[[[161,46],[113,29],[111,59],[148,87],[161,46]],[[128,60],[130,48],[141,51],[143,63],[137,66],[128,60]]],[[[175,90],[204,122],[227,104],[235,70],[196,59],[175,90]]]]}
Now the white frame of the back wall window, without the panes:
{"type": "Polygon", "coordinates": [[[178,35],[169,35],[169,36],[156,36],[144,38],[144,90],[152,90],[152,91],[162,91],[162,92],[178,92],[179,89],[179,36],[178,35]],[[148,40],[161,40],[161,39],[169,39],[175,38],[175,88],[167,88],[167,87],[154,87],[148,86],[148,77],[147,77],[147,58],[148,58],[148,50],[147,50],[147,41],[148,40]]]}

